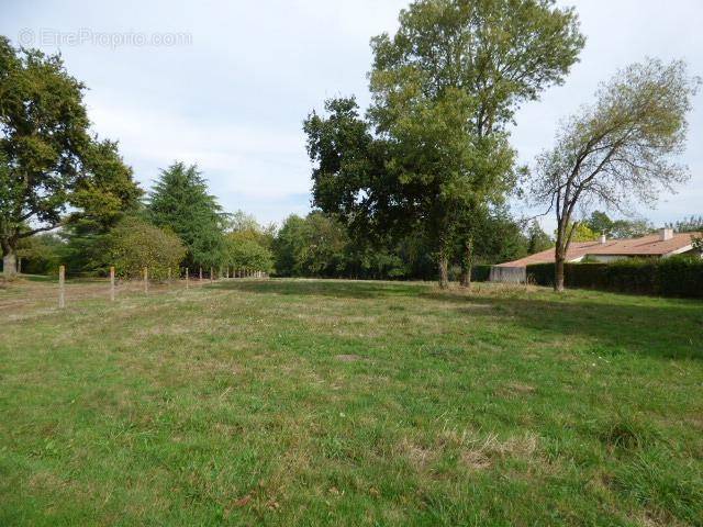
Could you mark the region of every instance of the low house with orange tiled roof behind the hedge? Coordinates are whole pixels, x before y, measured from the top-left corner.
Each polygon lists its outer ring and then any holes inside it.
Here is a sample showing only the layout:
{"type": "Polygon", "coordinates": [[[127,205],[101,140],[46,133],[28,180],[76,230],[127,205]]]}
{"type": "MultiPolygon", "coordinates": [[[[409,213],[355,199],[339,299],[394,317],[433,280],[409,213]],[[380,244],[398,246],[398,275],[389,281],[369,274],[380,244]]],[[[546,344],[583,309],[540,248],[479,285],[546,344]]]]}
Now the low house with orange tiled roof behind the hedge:
{"type": "MultiPolygon", "coordinates": [[[[693,238],[702,233],[674,233],[661,228],[657,234],[641,238],[607,239],[604,235],[594,242],[573,242],[569,245],[566,261],[614,261],[623,258],[668,258],[673,255],[699,254],[693,248],[693,238]]],[[[526,268],[533,264],[554,262],[554,248],[529,255],[520,260],[506,261],[491,268],[490,280],[494,282],[524,282],[526,268]]]]}

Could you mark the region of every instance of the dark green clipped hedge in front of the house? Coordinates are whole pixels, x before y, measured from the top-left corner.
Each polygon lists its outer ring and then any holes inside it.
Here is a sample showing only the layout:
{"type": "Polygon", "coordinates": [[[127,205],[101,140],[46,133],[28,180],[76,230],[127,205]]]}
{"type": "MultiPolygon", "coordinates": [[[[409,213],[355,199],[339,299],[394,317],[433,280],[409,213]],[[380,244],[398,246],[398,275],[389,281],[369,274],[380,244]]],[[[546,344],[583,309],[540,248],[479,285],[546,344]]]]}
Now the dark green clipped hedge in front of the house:
{"type": "MultiPolygon", "coordinates": [[[[565,264],[565,287],[703,299],[703,259],[674,256],[612,264],[565,264]]],[[[527,266],[528,281],[554,285],[555,265],[527,266]]]]}

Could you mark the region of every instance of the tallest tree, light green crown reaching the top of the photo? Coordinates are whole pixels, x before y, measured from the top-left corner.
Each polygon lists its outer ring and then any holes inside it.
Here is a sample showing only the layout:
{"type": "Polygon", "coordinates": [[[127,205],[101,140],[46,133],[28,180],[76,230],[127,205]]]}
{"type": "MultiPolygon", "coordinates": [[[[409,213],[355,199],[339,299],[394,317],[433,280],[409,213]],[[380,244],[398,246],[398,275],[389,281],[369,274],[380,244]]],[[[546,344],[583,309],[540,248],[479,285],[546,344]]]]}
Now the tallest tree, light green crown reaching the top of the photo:
{"type": "Polygon", "coordinates": [[[562,81],[583,42],[573,10],[553,0],[421,0],[401,12],[392,38],[372,41],[371,115],[400,149],[401,180],[422,187],[442,287],[451,238],[470,248],[471,211],[511,187],[505,125],[522,102],[562,81]]]}

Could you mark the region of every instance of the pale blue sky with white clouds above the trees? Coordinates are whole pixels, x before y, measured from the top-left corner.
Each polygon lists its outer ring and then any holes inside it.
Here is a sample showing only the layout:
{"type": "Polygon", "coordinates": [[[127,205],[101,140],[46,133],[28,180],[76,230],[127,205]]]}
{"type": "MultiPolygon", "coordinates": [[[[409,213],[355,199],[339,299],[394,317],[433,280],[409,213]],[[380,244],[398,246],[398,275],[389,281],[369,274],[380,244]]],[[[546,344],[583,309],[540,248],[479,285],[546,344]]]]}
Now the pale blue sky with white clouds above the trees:
{"type": "MultiPolygon", "coordinates": [[[[561,87],[517,114],[523,162],[553,143],[559,119],[598,83],[646,56],[684,58],[703,75],[701,0],[580,0],[588,42],[561,87]]],[[[310,210],[310,162],[301,123],[325,98],[368,103],[369,38],[393,32],[408,1],[0,0],[0,33],[60,51],[82,80],[93,128],[119,139],[149,188],[174,160],[197,162],[228,211],[261,222],[310,210]]],[[[703,97],[694,100],[683,161],[691,181],[640,213],[659,225],[703,214],[703,97]]],[[[517,212],[522,211],[515,203],[517,212]]],[[[545,221],[550,228],[553,222],[545,221]]]]}

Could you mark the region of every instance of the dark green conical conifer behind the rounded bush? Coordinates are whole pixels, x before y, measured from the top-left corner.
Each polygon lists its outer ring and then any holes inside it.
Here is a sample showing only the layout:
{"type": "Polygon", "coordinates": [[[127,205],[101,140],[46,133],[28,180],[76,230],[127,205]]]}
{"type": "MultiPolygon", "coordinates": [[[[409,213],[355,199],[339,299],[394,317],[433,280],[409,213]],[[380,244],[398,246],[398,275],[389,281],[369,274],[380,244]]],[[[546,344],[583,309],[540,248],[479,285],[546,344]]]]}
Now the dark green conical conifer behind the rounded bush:
{"type": "Polygon", "coordinates": [[[188,267],[222,264],[226,216],[208,193],[196,165],[175,162],[161,170],[149,193],[147,212],[154,225],[170,228],[181,238],[188,249],[188,267]]]}

